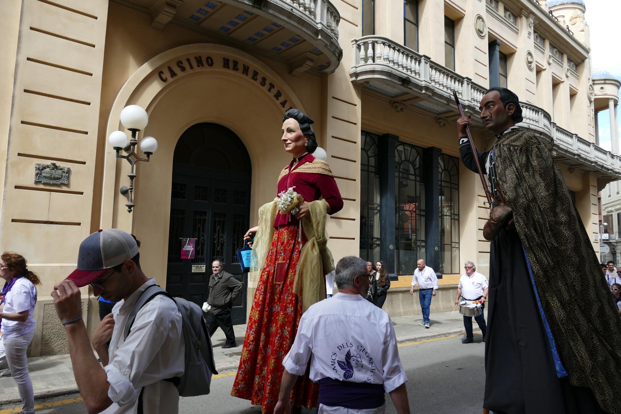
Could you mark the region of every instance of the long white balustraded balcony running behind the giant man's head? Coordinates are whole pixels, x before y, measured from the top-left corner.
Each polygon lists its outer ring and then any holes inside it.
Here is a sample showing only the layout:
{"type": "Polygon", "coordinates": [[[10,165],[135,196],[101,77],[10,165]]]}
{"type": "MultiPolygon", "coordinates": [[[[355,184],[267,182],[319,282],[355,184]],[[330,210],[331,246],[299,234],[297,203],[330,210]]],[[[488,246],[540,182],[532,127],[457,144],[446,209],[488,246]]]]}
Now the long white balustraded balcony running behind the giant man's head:
{"type": "MultiPolygon", "coordinates": [[[[437,119],[456,116],[453,91],[465,111],[473,115],[474,127],[483,128],[479,103],[486,89],[429,57],[381,36],[352,40],[352,81],[391,99],[397,111],[411,106],[435,114],[437,119]]],[[[522,126],[535,132],[555,159],[570,169],[594,173],[604,182],[621,178],[621,158],[551,122],[550,114],[528,103],[520,103],[522,126]]]]}

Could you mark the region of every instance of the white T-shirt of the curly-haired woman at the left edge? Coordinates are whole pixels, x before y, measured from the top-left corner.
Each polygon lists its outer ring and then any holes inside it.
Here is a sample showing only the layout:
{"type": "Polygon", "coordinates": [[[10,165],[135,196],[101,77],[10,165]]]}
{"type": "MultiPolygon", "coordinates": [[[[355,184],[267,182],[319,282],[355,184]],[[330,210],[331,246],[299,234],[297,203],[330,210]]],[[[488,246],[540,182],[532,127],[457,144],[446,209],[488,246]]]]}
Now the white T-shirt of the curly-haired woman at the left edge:
{"type": "Polygon", "coordinates": [[[24,322],[2,320],[2,336],[13,338],[35,330],[35,306],[37,305],[37,288],[25,277],[18,278],[6,293],[5,313],[20,313],[30,310],[24,322]]]}

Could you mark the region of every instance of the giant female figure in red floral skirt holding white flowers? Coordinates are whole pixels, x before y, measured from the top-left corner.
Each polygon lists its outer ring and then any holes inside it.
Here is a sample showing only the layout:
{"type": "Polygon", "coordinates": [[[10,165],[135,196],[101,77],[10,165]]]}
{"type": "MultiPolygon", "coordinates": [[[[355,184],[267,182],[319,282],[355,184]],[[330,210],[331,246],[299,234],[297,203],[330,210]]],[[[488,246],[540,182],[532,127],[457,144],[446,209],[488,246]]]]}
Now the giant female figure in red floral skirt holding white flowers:
{"type": "MultiPolygon", "coordinates": [[[[263,413],[273,412],[278,402],[283,358],[300,316],[325,298],[324,275],[333,269],[325,219],[343,208],[343,200],[328,164],[312,156],[317,148],[312,123],[297,109],[284,114],[281,141],[293,159],[278,177],[278,197],[261,206],[259,225],[245,237],[256,234],[258,284],[231,395],[260,404],[263,413]]],[[[314,407],[317,395],[307,373],[292,390],[291,405],[314,407]]]]}

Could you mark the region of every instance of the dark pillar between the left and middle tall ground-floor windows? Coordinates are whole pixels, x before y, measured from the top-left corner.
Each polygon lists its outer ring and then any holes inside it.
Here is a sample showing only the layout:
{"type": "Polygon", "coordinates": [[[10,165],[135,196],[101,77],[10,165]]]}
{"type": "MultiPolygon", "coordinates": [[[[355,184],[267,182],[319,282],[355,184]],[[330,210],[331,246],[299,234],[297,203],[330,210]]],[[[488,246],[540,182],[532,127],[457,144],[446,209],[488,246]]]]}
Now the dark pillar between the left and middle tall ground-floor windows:
{"type": "Polygon", "coordinates": [[[394,148],[399,137],[384,134],[378,139],[379,152],[379,257],[384,260],[389,274],[395,273],[395,188],[394,148]]]}

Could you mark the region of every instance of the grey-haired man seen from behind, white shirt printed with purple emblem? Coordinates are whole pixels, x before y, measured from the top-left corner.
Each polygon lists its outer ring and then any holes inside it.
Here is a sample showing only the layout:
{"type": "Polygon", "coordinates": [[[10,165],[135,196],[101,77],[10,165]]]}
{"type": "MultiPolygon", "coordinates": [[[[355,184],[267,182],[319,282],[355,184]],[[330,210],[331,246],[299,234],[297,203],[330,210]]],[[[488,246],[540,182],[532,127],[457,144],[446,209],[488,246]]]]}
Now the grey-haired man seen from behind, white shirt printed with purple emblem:
{"type": "Polygon", "coordinates": [[[291,390],[306,372],[319,382],[319,414],[384,414],[388,392],[399,414],[409,414],[406,372],[388,313],[365,298],[366,262],[347,256],[336,269],[338,293],[312,305],[300,318],[284,357],[274,414],[291,413],[291,390]],[[312,354],[312,359],[311,359],[312,354]]]}

